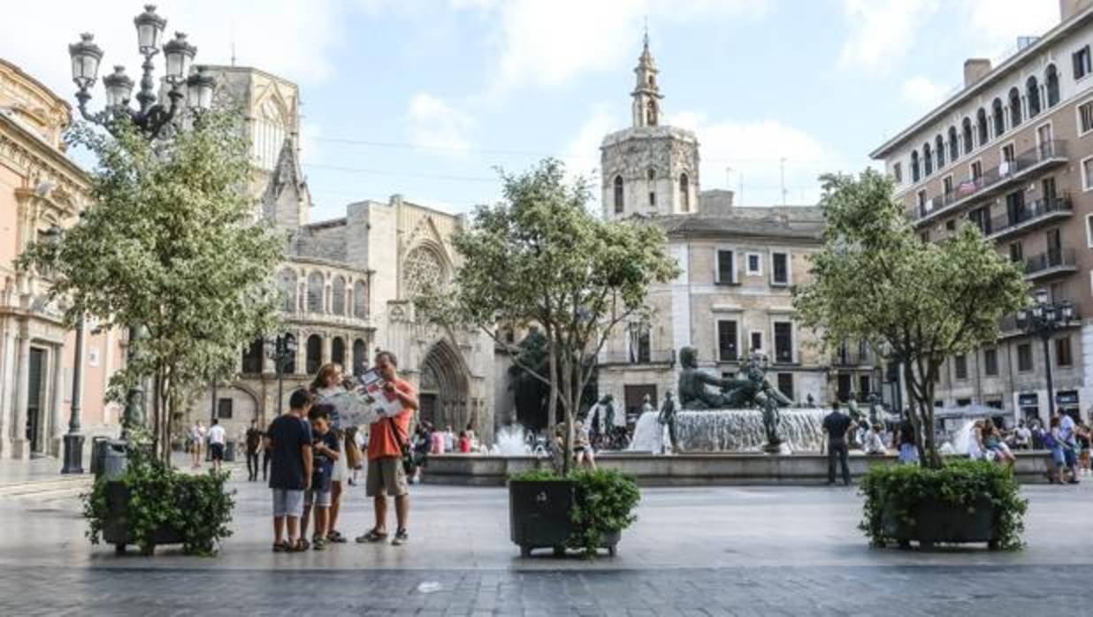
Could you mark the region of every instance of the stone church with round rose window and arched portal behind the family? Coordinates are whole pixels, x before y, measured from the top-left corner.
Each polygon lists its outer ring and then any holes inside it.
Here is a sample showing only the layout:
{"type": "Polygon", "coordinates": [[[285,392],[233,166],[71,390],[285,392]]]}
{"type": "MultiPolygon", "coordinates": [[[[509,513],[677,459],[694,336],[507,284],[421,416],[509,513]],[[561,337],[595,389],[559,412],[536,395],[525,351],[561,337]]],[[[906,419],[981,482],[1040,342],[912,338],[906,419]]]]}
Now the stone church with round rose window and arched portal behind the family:
{"type": "MultiPolygon", "coordinates": [[[[277,273],[284,332],[297,343],[286,363],[283,396],[306,385],[319,366],[336,361],[360,372],[376,349],[393,352],[399,370],[421,395],[420,418],[459,430],[468,424],[493,438],[493,345],[474,332],[424,323],[412,299],[426,284],[446,285],[458,264],[451,237],[459,216],[401,195],[360,201],[344,216],[310,222],[312,198],[299,163],[299,91],[286,80],[239,67],[207,67],[216,78],[214,102],[242,106],[252,144],[252,190],[261,215],[287,237],[277,273]]],[[[191,405],[187,425],[214,413],[228,436],[252,418],[278,413],[278,371],[269,341],[240,354],[238,379],[218,384],[191,405]],[[215,402],[213,402],[215,399],[215,402]],[[215,407],[215,410],[213,410],[215,407]]]]}

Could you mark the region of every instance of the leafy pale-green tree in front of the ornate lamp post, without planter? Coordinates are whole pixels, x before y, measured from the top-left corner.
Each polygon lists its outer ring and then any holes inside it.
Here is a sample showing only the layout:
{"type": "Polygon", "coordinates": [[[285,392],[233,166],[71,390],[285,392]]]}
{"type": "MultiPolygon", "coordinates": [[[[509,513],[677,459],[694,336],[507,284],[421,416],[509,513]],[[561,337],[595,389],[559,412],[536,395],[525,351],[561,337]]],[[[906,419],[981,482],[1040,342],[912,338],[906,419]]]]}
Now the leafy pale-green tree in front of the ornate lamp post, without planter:
{"type": "Polygon", "coordinates": [[[240,347],[274,329],[283,242],[256,222],[238,114],[207,112],[169,141],[128,123],[115,133],[74,128],[97,157],[93,204],[59,242],[33,242],[20,266],[50,273],[70,327],[86,316],[143,328],[109,398],[153,379],[153,438],[167,458],[176,405],[231,376],[240,347]]]}

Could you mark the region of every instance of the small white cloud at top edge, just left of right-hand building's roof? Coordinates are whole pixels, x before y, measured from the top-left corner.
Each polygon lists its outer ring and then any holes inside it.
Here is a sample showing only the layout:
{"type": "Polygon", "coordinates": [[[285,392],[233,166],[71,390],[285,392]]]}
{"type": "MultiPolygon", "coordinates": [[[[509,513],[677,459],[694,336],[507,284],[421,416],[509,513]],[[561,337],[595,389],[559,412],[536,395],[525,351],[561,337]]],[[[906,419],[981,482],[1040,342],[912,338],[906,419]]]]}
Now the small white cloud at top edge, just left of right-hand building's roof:
{"type": "Polygon", "coordinates": [[[844,0],[850,22],[839,66],[884,73],[917,40],[919,26],[939,8],[938,0],[844,0]]]}

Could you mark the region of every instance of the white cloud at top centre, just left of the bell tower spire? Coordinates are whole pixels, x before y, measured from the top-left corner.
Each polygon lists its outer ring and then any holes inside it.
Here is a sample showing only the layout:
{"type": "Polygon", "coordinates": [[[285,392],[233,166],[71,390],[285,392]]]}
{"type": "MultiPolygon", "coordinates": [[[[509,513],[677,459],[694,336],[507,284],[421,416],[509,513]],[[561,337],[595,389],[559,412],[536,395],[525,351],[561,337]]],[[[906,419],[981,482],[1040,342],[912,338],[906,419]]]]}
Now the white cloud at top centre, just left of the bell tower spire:
{"type": "Polygon", "coordinates": [[[513,86],[555,87],[581,73],[603,71],[637,54],[643,16],[658,21],[690,21],[720,16],[757,15],[768,0],[451,0],[456,8],[493,11],[497,26],[491,35],[497,47],[495,92],[513,86]]]}

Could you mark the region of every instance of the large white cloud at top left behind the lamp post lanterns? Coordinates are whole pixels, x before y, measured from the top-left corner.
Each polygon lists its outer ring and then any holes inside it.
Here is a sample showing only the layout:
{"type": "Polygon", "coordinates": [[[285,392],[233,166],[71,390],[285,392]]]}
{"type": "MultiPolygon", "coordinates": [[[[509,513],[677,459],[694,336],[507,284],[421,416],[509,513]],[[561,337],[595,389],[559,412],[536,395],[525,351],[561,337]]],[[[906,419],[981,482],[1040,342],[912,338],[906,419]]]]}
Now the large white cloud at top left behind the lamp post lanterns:
{"type": "MultiPolygon", "coordinates": [[[[197,62],[230,63],[234,43],[237,64],[304,84],[334,73],[331,56],[344,39],[350,10],[340,0],[161,0],[157,5],[156,12],[167,19],[164,40],[176,31],[187,33],[198,48],[197,62]]],[[[68,45],[79,40],[80,33],[91,32],[106,52],[99,74],[124,64],[139,81],[141,59],[132,19],[140,11],[140,2],[120,0],[5,5],[0,19],[3,55],[68,98],[74,91],[68,45]]],[[[162,59],[156,62],[162,74],[162,59]]]]}

